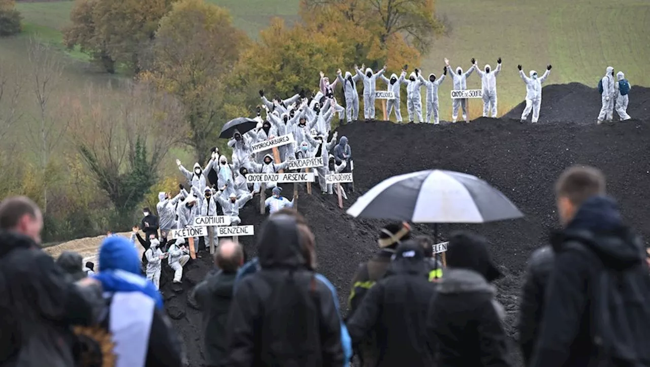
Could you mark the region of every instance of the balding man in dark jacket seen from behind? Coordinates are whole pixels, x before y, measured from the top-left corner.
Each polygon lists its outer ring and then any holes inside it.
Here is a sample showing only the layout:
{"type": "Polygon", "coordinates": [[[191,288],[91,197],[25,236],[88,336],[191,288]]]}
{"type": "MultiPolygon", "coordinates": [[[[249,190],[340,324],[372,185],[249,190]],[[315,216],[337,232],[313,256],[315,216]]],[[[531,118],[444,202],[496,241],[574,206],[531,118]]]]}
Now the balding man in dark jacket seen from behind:
{"type": "Polygon", "coordinates": [[[203,318],[205,366],[222,366],[228,354],[226,322],[233,301],[237,270],[244,264],[244,250],[237,242],[223,240],[214,255],[216,272],[208,273],[192,291],[203,318]]]}

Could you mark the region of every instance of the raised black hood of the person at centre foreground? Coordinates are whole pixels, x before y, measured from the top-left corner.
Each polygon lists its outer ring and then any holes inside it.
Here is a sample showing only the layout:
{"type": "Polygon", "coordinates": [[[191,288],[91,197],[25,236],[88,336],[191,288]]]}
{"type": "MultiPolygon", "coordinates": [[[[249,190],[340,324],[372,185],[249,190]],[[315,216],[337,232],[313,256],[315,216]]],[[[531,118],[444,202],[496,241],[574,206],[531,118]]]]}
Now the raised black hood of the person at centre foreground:
{"type": "Polygon", "coordinates": [[[257,251],[262,268],[306,268],[295,218],[286,214],[271,216],[262,223],[260,232],[257,251]]]}

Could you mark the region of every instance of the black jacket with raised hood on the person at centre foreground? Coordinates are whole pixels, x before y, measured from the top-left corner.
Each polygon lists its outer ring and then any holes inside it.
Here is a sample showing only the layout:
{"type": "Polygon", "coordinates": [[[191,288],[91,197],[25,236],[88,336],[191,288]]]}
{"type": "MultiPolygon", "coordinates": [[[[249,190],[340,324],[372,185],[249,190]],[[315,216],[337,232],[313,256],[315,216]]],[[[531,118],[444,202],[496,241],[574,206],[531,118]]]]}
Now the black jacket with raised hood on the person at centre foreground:
{"type": "Polygon", "coordinates": [[[237,284],[227,366],[343,366],[337,300],[307,270],[296,220],[271,216],[257,238],[261,270],[237,284]]]}

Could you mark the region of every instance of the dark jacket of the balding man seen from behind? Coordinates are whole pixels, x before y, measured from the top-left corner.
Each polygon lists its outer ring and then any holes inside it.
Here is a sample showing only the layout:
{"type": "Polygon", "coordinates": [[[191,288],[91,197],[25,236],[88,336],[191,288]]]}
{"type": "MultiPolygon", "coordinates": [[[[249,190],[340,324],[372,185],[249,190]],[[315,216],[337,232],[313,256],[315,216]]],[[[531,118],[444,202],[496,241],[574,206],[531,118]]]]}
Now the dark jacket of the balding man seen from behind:
{"type": "Polygon", "coordinates": [[[220,366],[227,355],[226,324],[237,273],[209,273],[194,288],[194,299],[203,312],[204,359],[209,366],[220,366]]]}

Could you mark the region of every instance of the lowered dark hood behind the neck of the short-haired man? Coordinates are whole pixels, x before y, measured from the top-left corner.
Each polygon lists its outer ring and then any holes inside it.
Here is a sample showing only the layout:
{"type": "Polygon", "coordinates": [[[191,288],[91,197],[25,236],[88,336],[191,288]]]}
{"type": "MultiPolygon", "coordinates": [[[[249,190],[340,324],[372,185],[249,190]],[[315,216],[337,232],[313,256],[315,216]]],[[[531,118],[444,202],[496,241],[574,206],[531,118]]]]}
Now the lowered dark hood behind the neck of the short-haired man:
{"type": "Polygon", "coordinates": [[[616,201],[610,197],[587,199],[562,233],[552,238],[555,251],[577,240],[590,247],[608,268],[623,270],[645,259],[642,240],[623,224],[616,201]]]}

